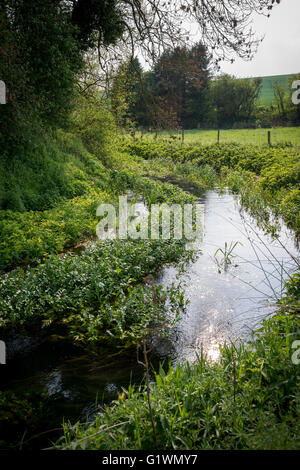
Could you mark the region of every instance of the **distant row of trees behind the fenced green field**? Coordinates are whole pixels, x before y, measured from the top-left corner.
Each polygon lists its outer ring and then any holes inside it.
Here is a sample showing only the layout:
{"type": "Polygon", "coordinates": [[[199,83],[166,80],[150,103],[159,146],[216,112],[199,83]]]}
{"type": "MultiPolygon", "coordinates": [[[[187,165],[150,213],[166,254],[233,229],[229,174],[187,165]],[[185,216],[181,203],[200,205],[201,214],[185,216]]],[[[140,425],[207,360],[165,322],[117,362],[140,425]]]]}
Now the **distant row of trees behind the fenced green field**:
{"type": "Polygon", "coordinates": [[[139,60],[119,66],[110,88],[118,127],[162,129],[255,128],[298,125],[295,106],[282,86],[274,85],[274,102],[262,106],[261,78],[215,75],[211,56],[198,43],[165,51],[150,71],[139,60]]]}

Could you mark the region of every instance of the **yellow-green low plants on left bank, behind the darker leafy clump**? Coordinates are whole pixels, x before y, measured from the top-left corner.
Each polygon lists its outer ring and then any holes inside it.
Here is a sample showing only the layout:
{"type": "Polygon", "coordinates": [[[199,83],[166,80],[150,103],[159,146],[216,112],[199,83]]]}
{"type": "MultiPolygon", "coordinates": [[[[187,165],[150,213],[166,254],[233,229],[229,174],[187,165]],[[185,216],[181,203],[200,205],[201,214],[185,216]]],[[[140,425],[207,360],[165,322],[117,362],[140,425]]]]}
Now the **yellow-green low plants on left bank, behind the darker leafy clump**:
{"type": "Polygon", "coordinates": [[[95,164],[95,173],[85,194],[62,199],[52,209],[0,211],[0,271],[44,262],[49,255],[61,253],[87,238],[95,238],[98,205],[108,202],[116,204],[118,196],[127,189],[142,194],[146,201],[151,200],[152,203],[191,199],[174,186],[138,178],[134,174],[138,164],[130,166],[129,160],[118,155],[119,171],[104,168],[100,162],[98,166],[95,164]],[[130,171],[121,171],[121,166],[130,171]]]}

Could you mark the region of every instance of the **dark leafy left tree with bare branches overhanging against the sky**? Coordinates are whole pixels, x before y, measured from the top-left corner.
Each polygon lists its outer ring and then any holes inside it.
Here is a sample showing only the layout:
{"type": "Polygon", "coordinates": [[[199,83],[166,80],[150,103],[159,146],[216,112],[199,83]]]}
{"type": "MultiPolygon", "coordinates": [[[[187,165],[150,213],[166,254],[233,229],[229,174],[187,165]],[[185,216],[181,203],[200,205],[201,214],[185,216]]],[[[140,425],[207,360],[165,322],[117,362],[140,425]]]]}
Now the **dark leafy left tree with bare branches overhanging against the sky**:
{"type": "Polygon", "coordinates": [[[89,51],[98,51],[100,65],[110,71],[124,56],[133,58],[137,52],[154,64],[163,52],[192,47],[186,25],[193,24],[215,63],[231,54],[249,59],[259,43],[251,15],[269,15],[276,3],[279,0],[3,0],[3,154],[14,153],[45,126],[65,125],[89,51]]]}

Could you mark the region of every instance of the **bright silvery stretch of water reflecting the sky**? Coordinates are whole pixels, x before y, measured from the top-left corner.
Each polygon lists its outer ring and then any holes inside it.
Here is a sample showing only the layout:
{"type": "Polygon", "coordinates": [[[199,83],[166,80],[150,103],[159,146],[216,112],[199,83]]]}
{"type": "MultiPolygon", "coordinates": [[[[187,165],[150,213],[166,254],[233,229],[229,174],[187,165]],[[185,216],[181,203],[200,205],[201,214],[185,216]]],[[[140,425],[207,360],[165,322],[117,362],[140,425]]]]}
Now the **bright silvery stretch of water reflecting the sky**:
{"type": "MultiPolygon", "coordinates": [[[[285,226],[279,240],[265,235],[231,194],[208,191],[199,202],[205,207],[203,242],[197,261],[179,277],[189,305],[177,326],[174,362],[195,360],[201,348],[216,360],[219,344],[249,338],[275,311],[274,301],[297,265],[298,252],[285,226]],[[218,248],[225,251],[225,242],[227,250],[234,247],[227,270],[223,254],[216,254],[218,248]]],[[[177,274],[167,267],[158,281],[168,285],[177,274]]]]}

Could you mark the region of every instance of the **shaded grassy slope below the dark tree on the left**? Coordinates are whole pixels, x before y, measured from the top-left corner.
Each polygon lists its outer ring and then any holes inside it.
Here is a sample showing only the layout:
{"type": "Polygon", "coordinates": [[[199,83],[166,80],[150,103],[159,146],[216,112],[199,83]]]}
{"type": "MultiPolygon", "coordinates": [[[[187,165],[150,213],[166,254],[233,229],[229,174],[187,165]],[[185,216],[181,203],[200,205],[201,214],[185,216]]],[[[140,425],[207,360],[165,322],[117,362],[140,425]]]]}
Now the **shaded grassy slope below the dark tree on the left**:
{"type": "Polygon", "coordinates": [[[43,211],[101,187],[102,163],[80,139],[57,132],[0,162],[0,211],[43,211]]]}

